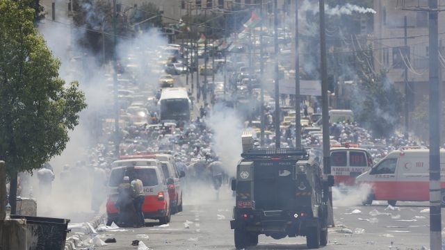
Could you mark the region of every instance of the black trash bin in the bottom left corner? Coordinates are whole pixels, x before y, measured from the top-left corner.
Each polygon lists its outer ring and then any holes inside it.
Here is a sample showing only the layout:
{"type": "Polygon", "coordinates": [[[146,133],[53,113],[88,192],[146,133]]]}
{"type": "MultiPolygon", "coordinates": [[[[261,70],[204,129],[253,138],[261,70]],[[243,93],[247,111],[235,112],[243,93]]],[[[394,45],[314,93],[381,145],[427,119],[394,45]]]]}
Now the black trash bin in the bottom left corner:
{"type": "Polygon", "coordinates": [[[35,247],[29,246],[31,247],[30,249],[65,249],[70,219],[24,215],[11,215],[10,217],[11,219],[26,219],[26,228],[28,229],[26,241],[35,244],[35,247]]]}

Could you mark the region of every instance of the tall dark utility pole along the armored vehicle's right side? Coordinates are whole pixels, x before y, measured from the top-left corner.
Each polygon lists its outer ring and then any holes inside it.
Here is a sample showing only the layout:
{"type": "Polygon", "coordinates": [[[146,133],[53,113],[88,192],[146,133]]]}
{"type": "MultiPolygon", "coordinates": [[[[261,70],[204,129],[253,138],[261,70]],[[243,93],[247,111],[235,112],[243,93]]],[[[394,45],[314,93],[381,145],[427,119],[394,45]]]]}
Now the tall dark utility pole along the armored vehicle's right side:
{"type": "MultiPolygon", "coordinates": [[[[323,121],[323,201],[330,203],[332,208],[332,186],[329,185],[331,176],[331,153],[329,134],[329,100],[327,99],[327,63],[326,63],[326,33],[325,33],[325,0],[319,0],[320,4],[320,53],[321,53],[321,96],[322,96],[322,121],[323,121]]],[[[328,215],[328,219],[334,226],[334,217],[328,215]]]]}

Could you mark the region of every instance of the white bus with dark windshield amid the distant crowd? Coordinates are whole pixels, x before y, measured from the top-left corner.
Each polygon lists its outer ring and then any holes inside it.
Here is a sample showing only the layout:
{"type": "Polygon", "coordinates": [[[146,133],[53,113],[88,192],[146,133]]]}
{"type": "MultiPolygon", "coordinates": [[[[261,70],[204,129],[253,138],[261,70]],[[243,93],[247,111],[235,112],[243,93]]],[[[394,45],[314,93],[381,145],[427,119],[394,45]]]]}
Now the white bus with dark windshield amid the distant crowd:
{"type": "Polygon", "coordinates": [[[186,88],[164,88],[158,106],[161,121],[190,122],[192,105],[186,88]]]}

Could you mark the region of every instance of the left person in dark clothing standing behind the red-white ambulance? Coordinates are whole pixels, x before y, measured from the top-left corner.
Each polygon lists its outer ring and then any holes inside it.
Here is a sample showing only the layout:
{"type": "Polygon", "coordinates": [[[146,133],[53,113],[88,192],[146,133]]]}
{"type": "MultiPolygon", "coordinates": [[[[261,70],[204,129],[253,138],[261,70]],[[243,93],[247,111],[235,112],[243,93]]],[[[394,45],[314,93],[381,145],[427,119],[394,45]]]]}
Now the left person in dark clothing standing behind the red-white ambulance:
{"type": "Polygon", "coordinates": [[[136,224],[136,210],[133,206],[134,191],[130,185],[129,176],[124,176],[124,182],[118,188],[118,201],[116,208],[119,210],[118,226],[133,226],[136,224]]]}

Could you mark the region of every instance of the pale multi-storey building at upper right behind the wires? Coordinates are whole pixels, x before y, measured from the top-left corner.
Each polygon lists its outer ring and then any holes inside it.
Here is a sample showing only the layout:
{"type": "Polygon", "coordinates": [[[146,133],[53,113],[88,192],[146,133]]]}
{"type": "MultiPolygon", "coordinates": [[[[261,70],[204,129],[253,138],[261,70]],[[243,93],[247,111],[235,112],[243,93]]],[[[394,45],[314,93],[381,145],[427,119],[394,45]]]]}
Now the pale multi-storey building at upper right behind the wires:
{"type": "MultiPolygon", "coordinates": [[[[377,13],[371,42],[375,49],[375,69],[389,69],[389,78],[401,90],[405,88],[405,67],[407,68],[412,110],[428,94],[428,12],[406,10],[407,8],[428,8],[428,0],[375,0],[374,10],[377,13]]],[[[445,25],[441,24],[445,24],[444,12],[439,12],[439,44],[445,42],[445,25]]],[[[439,57],[445,56],[444,45],[439,49],[439,57]]],[[[439,67],[444,72],[445,62],[439,67]]]]}

